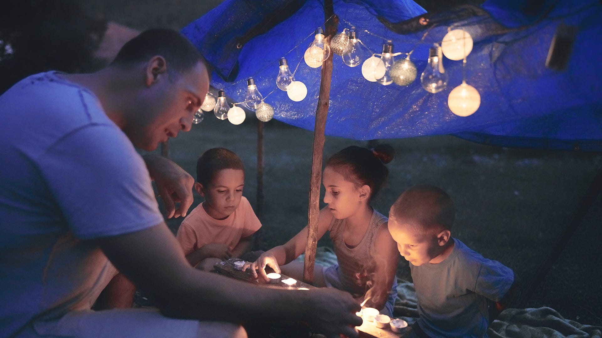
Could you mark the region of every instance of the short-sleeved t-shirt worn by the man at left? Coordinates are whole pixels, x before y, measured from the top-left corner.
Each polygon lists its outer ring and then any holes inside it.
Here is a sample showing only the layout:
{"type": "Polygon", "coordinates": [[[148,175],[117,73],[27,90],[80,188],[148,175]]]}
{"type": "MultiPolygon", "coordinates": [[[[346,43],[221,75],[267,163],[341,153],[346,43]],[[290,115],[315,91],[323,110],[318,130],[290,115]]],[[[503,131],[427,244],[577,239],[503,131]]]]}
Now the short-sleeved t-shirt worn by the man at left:
{"type": "Polygon", "coordinates": [[[85,240],[163,221],[143,159],[96,96],[56,72],[0,96],[0,336],[90,309],[116,274],[85,240]]]}

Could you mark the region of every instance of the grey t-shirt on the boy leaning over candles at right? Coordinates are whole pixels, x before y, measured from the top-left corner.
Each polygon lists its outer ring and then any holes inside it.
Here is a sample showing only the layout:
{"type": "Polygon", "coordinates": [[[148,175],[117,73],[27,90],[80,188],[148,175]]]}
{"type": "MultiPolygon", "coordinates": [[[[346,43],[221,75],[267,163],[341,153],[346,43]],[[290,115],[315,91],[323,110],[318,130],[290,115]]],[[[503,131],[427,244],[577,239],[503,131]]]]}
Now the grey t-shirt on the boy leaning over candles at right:
{"type": "Polygon", "coordinates": [[[418,325],[431,337],[487,337],[488,300],[500,301],[514,272],[458,239],[438,264],[409,263],[418,298],[418,325]]]}

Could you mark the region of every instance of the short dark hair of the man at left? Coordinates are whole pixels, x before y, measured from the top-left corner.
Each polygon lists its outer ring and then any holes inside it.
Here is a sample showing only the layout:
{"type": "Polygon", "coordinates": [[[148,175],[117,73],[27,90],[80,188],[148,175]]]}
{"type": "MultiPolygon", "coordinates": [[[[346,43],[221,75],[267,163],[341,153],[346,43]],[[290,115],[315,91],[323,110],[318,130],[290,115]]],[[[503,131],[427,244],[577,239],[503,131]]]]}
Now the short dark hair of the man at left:
{"type": "Polygon", "coordinates": [[[173,29],[151,28],[123,45],[111,65],[131,66],[160,55],[167,61],[170,79],[178,78],[202,62],[209,75],[209,65],[198,49],[184,35],[173,29]]]}

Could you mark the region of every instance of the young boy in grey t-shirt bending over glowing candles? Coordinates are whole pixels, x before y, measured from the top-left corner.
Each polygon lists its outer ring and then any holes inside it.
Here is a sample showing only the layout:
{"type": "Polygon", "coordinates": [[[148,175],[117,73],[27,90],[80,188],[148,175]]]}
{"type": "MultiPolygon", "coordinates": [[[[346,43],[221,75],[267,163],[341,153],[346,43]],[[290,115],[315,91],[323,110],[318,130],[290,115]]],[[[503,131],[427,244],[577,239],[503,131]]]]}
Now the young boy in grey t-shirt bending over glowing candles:
{"type": "Polygon", "coordinates": [[[408,260],[420,318],[412,337],[487,337],[489,304],[501,310],[511,269],[451,236],[451,198],[429,185],[409,188],[389,211],[389,232],[408,260]]]}

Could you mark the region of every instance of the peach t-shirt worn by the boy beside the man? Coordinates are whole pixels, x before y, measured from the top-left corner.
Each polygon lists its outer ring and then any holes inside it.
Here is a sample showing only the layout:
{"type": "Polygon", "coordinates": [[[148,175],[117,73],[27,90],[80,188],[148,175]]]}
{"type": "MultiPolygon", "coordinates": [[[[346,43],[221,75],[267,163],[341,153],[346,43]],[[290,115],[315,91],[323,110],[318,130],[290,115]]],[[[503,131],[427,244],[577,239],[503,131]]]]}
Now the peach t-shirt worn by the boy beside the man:
{"type": "Polygon", "coordinates": [[[241,238],[253,235],[261,227],[249,200],[244,196],[236,210],[225,220],[209,216],[203,209],[203,203],[184,218],[176,235],[186,256],[209,243],[223,243],[234,250],[241,238]]]}

